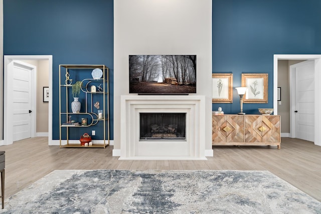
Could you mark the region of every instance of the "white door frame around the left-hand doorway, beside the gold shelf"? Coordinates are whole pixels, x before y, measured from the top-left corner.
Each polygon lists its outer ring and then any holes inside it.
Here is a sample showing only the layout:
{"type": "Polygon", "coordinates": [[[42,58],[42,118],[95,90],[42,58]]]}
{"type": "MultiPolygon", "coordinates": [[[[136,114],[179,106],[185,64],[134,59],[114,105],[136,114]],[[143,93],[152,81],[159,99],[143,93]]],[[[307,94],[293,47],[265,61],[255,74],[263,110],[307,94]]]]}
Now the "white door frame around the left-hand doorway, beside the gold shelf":
{"type": "MultiPolygon", "coordinates": [[[[9,96],[9,92],[12,91],[12,75],[8,70],[10,64],[19,60],[48,60],[49,61],[49,121],[48,121],[48,143],[51,145],[52,141],[52,55],[5,55],[4,56],[4,141],[3,145],[9,145],[13,143],[13,128],[12,120],[9,115],[12,115],[12,97],[9,96]]],[[[37,84],[37,82],[35,83],[37,84]]],[[[34,85],[34,84],[33,84],[34,85]]],[[[34,87],[34,86],[32,86],[34,87]]],[[[36,113],[36,112],[35,112],[36,113]]],[[[35,116],[36,117],[36,116],[35,116]]],[[[36,132],[36,129],[34,130],[36,132]]],[[[33,136],[33,131],[32,131],[33,136]]]]}

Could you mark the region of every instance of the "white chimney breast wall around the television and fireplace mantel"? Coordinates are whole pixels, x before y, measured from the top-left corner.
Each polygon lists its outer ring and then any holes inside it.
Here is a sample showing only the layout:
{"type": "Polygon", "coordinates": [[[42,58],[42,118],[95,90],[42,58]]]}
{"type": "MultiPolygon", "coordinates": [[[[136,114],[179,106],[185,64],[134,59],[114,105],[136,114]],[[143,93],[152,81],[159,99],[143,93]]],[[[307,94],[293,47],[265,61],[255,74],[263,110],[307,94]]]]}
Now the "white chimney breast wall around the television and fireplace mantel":
{"type": "Polygon", "coordinates": [[[206,96],[205,149],[212,149],[212,0],[114,1],[114,149],[120,96],[129,95],[128,55],[135,54],[197,55],[195,95],[206,96]]]}

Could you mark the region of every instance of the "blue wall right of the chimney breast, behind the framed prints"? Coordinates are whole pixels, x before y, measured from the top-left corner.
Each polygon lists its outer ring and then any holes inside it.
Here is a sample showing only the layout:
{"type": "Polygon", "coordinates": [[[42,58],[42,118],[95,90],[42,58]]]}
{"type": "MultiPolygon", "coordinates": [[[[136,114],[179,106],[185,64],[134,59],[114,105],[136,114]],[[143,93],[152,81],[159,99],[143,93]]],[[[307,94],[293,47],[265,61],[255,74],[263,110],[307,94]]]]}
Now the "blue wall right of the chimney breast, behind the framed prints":
{"type": "MultiPolygon", "coordinates": [[[[243,104],[247,114],[273,108],[273,55],[321,54],[319,0],[213,0],[213,70],[233,73],[233,88],[242,73],[267,73],[268,103],[243,104]]],[[[213,104],[224,113],[240,112],[233,89],[232,104],[213,104]]]]}

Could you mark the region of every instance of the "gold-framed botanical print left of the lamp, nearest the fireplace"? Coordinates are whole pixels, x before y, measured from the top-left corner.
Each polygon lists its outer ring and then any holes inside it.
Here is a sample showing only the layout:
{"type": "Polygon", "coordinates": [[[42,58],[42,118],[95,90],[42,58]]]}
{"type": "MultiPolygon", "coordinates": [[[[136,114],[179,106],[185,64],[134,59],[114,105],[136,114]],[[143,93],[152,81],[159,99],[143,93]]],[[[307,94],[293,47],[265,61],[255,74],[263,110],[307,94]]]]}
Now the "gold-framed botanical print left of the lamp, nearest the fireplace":
{"type": "Polygon", "coordinates": [[[212,74],[212,103],[233,102],[233,74],[212,74]]]}

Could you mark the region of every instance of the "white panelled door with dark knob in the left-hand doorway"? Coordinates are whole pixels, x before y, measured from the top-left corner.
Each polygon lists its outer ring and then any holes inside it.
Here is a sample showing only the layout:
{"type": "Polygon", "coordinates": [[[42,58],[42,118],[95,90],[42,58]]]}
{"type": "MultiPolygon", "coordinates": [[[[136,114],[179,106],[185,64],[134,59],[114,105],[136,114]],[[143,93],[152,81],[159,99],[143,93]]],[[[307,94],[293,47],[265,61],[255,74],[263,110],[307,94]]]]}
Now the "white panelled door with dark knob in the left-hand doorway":
{"type": "Polygon", "coordinates": [[[13,141],[31,137],[31,69],[14,64],[13,141]]]}

